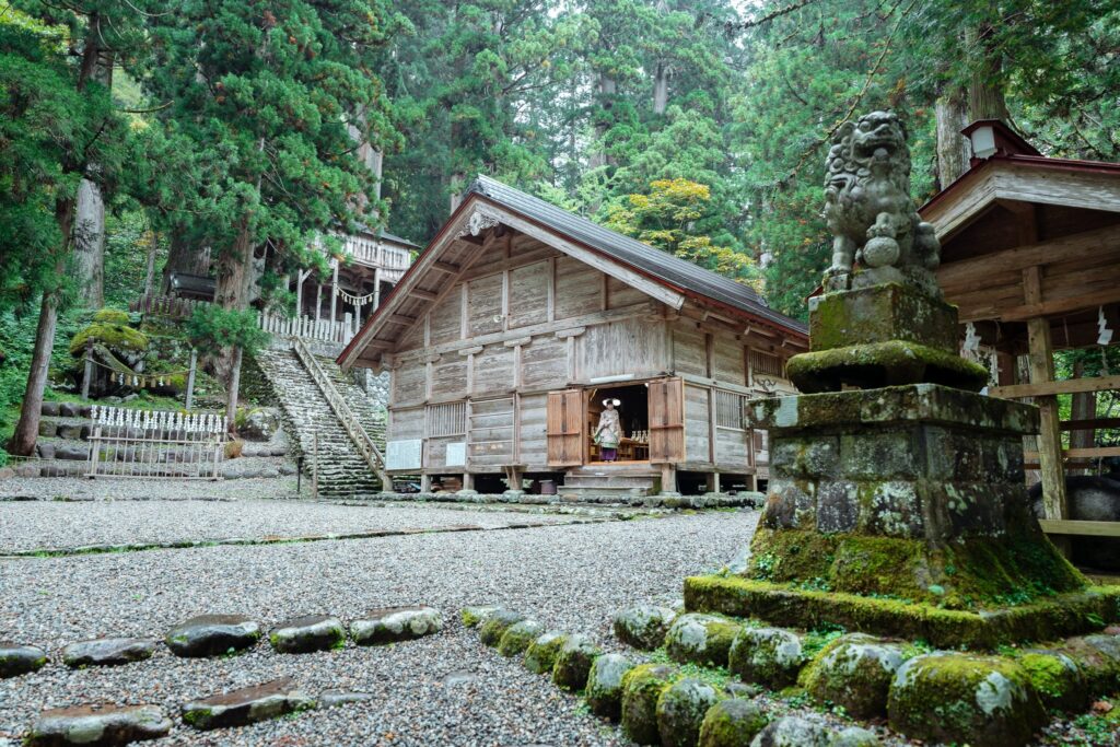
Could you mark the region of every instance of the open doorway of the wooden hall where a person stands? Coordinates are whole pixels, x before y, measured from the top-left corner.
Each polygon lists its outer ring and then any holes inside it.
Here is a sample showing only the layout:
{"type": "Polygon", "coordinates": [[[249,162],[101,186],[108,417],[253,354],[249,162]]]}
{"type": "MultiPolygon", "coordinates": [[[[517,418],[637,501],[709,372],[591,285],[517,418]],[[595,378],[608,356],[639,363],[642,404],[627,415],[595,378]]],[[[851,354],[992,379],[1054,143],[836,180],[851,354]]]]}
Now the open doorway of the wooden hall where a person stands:
{"type": "Polygon", "coordinates": [[[596,386],[587,396],[589,464],[650,461],[648,384],[596,386]],[[610,403],[608,405],[607,403],[610,403]],[[604,414],[614,409],[614,415],[604,414]],[[615,446],[612,448],[612,443],[615,446]]]}

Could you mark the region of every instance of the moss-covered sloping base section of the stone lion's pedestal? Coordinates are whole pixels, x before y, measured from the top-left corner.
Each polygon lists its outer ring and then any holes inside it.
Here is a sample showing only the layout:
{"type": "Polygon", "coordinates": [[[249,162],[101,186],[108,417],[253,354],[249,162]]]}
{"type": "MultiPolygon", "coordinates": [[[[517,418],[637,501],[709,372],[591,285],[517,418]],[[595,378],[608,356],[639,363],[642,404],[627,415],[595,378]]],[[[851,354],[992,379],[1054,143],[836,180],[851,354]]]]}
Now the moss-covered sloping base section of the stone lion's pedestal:
{"type": "Polygon", "coordinates": [[[1086,588],[1042,533],[925,540],[759,527],[747,578],[945,609],[997,609],[1086,588]]]}

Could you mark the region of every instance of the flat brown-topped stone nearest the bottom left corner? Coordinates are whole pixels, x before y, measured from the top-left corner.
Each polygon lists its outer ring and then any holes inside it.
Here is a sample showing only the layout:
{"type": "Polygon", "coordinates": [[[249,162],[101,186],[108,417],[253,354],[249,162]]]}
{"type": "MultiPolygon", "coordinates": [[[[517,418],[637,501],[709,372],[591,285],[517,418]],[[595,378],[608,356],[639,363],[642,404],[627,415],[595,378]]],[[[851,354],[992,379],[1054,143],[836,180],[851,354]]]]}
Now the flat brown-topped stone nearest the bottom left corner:
{"type": "Polygon", "coordinates": [[[43,711],[24,744],[28,747],[128,745],[159,739],[170,730],[171,720],[156,706],[77,706],[43,711]]]}

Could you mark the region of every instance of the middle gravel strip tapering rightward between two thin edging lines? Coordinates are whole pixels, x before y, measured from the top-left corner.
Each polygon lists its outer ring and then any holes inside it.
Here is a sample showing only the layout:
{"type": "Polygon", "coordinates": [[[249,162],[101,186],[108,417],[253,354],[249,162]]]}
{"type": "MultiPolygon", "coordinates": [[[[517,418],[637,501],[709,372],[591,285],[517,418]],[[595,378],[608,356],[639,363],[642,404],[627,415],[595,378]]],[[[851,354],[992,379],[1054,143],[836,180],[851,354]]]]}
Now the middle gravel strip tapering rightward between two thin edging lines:
{"type": "MultiPolygon", "coordinates": [[[[239,485],[240,487],[240,485],[239,485]]],[[[226,489],[228,489],[227,486],[226,489]]],[[[240,496],[240,492],[239,492],[240,496]]],[[[231,538],[296,538],[309,534],[439,529],[472,524],[567,523],[569,516],[463,511],[431,505],[389,507],[312,501],[97,501],[0,502],[0,553],[90,544],[161,543],[231,538]]]]}

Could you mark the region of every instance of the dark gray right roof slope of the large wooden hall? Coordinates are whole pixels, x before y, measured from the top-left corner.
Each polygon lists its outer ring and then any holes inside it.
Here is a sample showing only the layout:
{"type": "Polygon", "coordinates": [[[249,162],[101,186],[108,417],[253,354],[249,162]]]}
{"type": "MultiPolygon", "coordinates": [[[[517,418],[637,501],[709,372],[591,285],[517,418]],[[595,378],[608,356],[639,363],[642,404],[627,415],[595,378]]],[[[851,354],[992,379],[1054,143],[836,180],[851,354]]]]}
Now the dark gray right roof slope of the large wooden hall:
{"type": "Polygon", "coordinates": [[[501,181],[479,175],[467,193],[482,195],[671,286],[741,309],[782,327],[808,333],[808,327],[802,321],[769,308],[748,286],[605,228],[501,181]]]}

